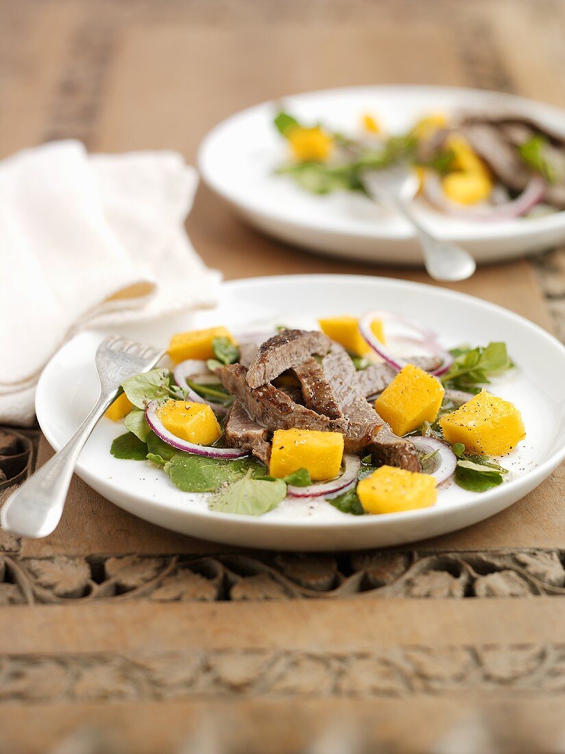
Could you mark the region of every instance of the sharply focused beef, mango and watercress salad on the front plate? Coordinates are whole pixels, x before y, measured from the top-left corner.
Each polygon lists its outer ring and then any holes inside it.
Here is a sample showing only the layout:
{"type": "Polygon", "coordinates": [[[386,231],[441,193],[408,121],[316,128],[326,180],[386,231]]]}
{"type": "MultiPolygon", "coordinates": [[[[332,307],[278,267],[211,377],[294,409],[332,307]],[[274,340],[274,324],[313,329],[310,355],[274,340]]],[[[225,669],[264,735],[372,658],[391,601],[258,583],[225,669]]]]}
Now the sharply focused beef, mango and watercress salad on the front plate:
{"type": "Polygon", "coordinates": [[[250,516],[288,501],[398,513],[509,477],[502,456],[526,432],[487,388],[514,368],[504,343],[447,351],[392,311],[318,326],[173,335],[169,366],[125,380],[108,409],[126,429],[111,454],[250,516]]]}

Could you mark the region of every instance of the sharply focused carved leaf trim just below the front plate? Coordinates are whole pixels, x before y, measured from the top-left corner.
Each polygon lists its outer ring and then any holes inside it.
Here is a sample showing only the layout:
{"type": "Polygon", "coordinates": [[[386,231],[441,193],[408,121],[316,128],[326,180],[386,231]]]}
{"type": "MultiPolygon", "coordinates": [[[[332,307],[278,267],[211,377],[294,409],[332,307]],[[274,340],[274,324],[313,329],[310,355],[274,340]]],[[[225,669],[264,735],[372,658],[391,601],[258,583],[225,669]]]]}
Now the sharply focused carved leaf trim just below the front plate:
{"type": "Polygon", "coordinates": [[[564,559],[563,550],[22,559],[6,553],[0,604],[565,596],[564,559]]]}

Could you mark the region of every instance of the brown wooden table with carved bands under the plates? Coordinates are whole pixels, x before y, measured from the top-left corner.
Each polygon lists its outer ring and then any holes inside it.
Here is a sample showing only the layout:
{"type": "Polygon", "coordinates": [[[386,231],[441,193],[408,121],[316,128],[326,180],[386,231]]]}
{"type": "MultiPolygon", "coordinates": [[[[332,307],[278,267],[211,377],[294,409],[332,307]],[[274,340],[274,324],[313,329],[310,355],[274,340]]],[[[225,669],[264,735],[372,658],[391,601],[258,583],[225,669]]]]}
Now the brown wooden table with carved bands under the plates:
{"type": "MultiPolygon", "coordinates": [[[[72,136],[194,161],[225,115],[344,84],[565,105],[553,0],[0,0],[0,15],[0,156],[72,136]]],[[[204,188],[188,230],[226,277],[426,280],[263,238],[204,188]]],[[[563,337],[563,259],[454,288],[563,337]]],[[[49,454],[40,439],[39,462],[49,454]]],[[[339,556],[182,537],[75,480],[49,538],[0,532],[0,751],[563,751],[564,476],[463,532],[339,556]]]]}

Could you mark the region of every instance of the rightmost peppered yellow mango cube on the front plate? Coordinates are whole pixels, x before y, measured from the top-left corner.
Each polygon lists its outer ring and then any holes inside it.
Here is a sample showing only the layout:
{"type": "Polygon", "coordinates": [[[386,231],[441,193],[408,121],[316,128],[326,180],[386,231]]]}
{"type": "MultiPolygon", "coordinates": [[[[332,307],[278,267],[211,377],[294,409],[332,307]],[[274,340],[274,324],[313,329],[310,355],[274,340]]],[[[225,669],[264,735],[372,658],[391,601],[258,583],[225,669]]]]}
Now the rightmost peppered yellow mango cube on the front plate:
{"type": "Polygon", "coordinates": [[[463,443],[467,450],[484,455],[507,453],[526,437],[514,403],[486,390],[442,416],[439,424],[448,443],[463,443]]]}

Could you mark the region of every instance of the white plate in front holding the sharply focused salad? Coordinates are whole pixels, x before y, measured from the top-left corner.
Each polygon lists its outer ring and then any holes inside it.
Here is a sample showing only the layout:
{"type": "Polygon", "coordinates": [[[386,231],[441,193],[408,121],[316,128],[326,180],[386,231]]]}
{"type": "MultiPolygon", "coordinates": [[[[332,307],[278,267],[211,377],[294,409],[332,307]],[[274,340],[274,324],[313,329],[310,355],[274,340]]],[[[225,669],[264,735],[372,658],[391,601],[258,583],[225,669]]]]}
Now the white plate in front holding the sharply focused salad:
{"type": "MultiPolygon", "coordinates": [[[[519,368],[491,389],[516,403],[527,429],[518,452],[505,458],[512,480],[481,495],[451,485],[440,492],[435,507],[383,516],[350,516],[325,502],[312,509],[290,500],[264,516],[212,513],[207,495],[181,492],[148,462],[113,458],[111,440],[124,427],[106,418],[81,454],[78,475],[125,510],[160,526],[229,544],[285,550],[382,547],[440,535],[492,516],[539,485],[565,456],[565,348],[538,326],[479,299],[356,275],[258,277],[224,284],[214,311],[132,326],[124,334],[165,345],[171,333],[193,326],[224,323],[241,331],[266,320],[307,325],[319,316],[361,314],[375,305],[425,322],[449,347],[490,340],[509,345],[519,368]]],[[[36,410],[55,449],[69,440],[96,400],[94,354],[105,334],[76,336],[41,375],[36,410]]]]}

